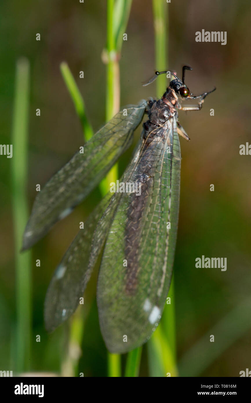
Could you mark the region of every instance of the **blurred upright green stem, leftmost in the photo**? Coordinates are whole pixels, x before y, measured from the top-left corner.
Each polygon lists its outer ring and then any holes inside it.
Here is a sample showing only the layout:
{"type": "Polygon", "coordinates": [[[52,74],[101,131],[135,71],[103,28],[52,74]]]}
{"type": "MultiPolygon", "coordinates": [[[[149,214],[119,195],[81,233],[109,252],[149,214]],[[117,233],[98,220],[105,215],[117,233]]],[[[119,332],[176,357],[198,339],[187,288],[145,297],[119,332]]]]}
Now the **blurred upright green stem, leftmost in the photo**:
{"type": "Polygon", "coordinates": [[[12,206],[16,266],[16,370],[29,370],[31,360],[31,252],[20,253],[28,220],[27,147],[29,117],[29,61],[17,61],[12,129],[12,206]]]}

